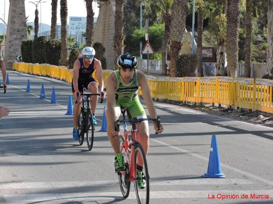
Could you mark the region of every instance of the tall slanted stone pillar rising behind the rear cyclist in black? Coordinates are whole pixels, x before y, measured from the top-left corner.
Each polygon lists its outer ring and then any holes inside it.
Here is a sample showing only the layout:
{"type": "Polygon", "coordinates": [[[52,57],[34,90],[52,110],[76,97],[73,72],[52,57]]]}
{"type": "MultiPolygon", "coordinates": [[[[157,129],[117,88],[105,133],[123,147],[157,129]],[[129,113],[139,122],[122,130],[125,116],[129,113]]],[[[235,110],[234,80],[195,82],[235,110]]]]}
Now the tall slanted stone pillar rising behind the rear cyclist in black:
{"type": "Polygon", "coordinates": [[[105,47],[107,68],[114,70],[114,34],[115,0],[100,3],[99,16],[94,29],[94,43],[100,42],[105,47]]]}

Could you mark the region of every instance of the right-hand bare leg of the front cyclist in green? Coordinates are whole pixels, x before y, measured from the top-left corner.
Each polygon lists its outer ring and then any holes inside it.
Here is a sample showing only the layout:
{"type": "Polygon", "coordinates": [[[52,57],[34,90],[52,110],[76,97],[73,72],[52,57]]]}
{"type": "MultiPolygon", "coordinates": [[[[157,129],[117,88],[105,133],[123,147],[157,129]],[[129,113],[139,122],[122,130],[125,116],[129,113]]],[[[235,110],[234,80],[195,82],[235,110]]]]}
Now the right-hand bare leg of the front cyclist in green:
{"type": "MultiPolygon", "coordinates": [[[[143,147],[143,150],[145,152],[145,156],[147,156],[148,150],[149,150],[149,145],[150,145],[149,126],[148,126],[147,121],[137,124],[136,128],[138,130],[138,141],[141,144],[141,146],[143,147]]],[[[138,165],[143,166],[143,161],[141,159],[140,154],[138,155],[138,165]]]]}

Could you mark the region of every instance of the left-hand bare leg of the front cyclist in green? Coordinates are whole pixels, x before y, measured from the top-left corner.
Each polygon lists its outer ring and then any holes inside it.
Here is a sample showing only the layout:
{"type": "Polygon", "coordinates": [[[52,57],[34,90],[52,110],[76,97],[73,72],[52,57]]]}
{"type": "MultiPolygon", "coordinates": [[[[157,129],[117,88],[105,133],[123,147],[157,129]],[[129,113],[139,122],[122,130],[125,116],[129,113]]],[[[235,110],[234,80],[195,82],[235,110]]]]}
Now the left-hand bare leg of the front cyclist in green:
{"type": "MultiPolygon", "coordinates": [[[[117,119],[119,119],[119,116],[121,114],[121,110],[119,107],[115,107],[115,121],[117,119]]],[[[107,121],[109,121],[109,118],[108,118],[108,114],[107,114],[107,109],[105,110],[105,116],[107,117],[107,121]]],[[[110,140],[110,143],[114,149],[114,152],[115,154],[119,154],[120,153],[120,146],[119,146],[119,133],[118,135],[113,138],[112,135],[110,134],[110,131],[111,131],[111,127],[109,125],[109,123],[107,123],[107,135],[108,135],[108,138],[110,140]]]]}

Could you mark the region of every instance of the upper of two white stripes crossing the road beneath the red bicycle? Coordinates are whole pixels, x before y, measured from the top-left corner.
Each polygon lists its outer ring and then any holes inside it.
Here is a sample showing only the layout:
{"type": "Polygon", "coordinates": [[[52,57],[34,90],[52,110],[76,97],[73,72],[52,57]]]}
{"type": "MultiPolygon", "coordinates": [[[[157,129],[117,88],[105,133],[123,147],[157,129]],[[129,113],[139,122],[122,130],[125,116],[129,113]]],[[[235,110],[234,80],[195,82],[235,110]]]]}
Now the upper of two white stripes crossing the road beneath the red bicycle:
{"type": "MultiPolygon", "coordinates": [[[[252,184],[247,179],[176,179],[176,180],[150,180],[152,186],[167,185],[237,185],[252,184]]],[[[30,189],[30,188],[71,188],[71,187],[107,187],[117,186],[118,181],[65,181],[65,182],[25,182],[0,183],[0,189],[30,189]]]]}

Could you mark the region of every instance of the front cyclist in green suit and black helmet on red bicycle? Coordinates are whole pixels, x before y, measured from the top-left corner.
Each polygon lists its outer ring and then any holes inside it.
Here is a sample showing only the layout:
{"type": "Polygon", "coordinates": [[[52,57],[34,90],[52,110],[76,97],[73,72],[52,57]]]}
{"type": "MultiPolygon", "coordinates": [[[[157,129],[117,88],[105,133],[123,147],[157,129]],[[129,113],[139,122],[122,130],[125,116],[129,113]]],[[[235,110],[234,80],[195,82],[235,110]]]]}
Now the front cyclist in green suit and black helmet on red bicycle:
{"type": "MultiPolygon", "coordinates": [[[[147,105],[150,117],[156,119],[157,113],[154,107],[150,88],[146,75],[137,70],[138,60],[129,52],[125,52],[117,59],[118,70],[113,71],[107,78],[107,103],[105,105],[105,115],[107,117],[107,135],[115,152],[115,168],[118,171],[124,171],[124,158],[120,152],[120,133],[115,131],[114,122],[121,115],[121,107],[127,108],[131,117],[147,118],[144,108],[142,107],[139,98],[139,87],[142,91],[142,96],[147,105]]],[[[163,131],[163,125],[160,129],[155,122],[154,130],[157,133],[163,131]]],[[[142,121],[136,125],[138,129],[138,139],[147,156],[149,150],[149,127],[148,121],[142,121]]],[[[138,177],[142,177],[142,166],[137,164],[138,177]]],[[[145,187],[145,180],[139,180],[138,187],[145,187]]]]}

